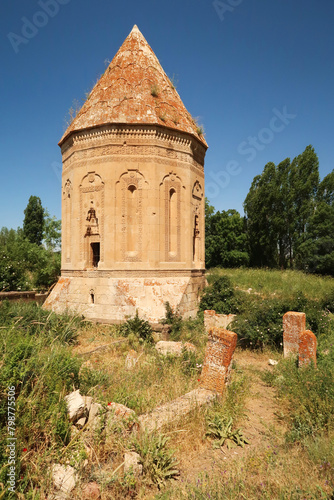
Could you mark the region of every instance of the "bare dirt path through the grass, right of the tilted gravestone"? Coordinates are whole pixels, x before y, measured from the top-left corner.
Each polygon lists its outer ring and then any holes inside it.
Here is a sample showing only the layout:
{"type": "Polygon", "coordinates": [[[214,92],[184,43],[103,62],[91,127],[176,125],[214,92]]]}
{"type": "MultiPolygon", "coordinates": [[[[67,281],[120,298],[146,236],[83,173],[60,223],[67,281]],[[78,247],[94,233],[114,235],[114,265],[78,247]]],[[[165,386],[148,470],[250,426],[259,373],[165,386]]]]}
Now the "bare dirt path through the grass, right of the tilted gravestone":
{"type": "MultiPolygon", "coordinates": [[[[250,441],[245,448],[233,448],[224,451],[212,448],[204,449],[189,456],[188,464],[181,473],[184,481],[193,481],[200,473],[210,472],[217,468],[228,467],[231,460],[242,460],[249,453],[282,442],[285,426],[276,416],[279,412],[275,391],[261,379],[260,373],[271,369],[266,354],[239,351],[234,356],[236,366],[249,380],[249,394],[245,403],[245,416],[238,423],[243,434],[250,441]]],[[[182,464],[183,466],[185,464],[182,464]]]]}

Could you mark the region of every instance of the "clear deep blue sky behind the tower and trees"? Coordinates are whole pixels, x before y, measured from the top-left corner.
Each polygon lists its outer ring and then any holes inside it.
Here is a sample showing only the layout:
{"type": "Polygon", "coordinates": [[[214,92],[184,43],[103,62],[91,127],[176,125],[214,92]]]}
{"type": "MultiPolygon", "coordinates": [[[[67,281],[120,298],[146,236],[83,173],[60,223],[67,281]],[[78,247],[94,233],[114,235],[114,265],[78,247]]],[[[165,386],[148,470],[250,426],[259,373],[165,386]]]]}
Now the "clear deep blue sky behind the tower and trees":
{"type": "Polygon", "coordinates": [[[264,165],[308,144],[321,178],[334,168],[333,0],[2,0],[0,13],[0,226],[22,226],[30,195],[60,218],[65,117],[134,24],[204,125],[217,210],[242,213],[264,165]]]}

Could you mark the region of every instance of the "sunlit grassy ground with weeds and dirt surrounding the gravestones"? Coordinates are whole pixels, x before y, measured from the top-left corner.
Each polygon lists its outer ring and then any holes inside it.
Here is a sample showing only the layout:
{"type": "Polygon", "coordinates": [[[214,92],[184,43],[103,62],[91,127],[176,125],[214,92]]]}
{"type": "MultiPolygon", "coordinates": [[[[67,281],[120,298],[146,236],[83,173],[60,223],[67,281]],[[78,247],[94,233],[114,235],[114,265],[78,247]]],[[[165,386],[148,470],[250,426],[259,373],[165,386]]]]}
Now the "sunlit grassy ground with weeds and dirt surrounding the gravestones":
{"type": "MultiPolygon", "coordinates": [[[[258,310],[270,310],[277,296],[283,300],[289,294],[291,298],[302,288],[309,301],[323,304],[333,287],[332,279],[294,272],[218,270],[213,276],[222,273],[239,290],[252,288],[244,296],[245,303],[252,304],[248,314],[254,325],[267,318],[266,313],[257,319],[258,310]],[[252,292],[260,293],[260,299],[252,292]]],[[[247,314],[242,307],[242,315],[247,314]]],[[[311,314],[310,303],[307,307],[311,314]]],[[[197,387],[206,344],[202,321],[176,318],[173,324],[173,338],[193,342],[196,356],[163,358],[152,343],[134,333],[124,337],[118,327],[56,316],[37,306],[2,303],[0,499],[46,499],[53,463],[70,464],[78,471],[73,500],[84,500],[83,487],[93,481],[99,485],[102,500],[332,498],[334,335],[329,313],[325,314],[327,326],[319,330],[317,370],[298,370],[270,342],[260,350],[238,348],[225,397],[164,429],[163,436],[135,438],[121,425],[109,433],[82,431],[73,439],[64,404],[64,396],[73,389],[92,395],[105,407],[114,401],[140,415],[197,387]],[[131,349],[139,360],[129,371],[125,359],[131,349]],[[269,367],[269,358],[278,365],[269,367]],[[11,386],[15,386],[17,438],[16,494],[12,496],[6,491],[11,386]],[[233,431],[241,428],[250,441],[244,448],[228,450],[226,444],[220,448],[217,439],[206,436],[212,424],[217,432],[223,431],[231,418],[233,431]],[[123,474],[126,450],[141,455],[143,477],[123,474]],[[178,475],[167,480],[168,471],[174,469],[178,475]]],[[[315,313],[314,317],[318,318],[315,313]]],[[[280,322],[278,318],[275,321],[280,322]]]]}

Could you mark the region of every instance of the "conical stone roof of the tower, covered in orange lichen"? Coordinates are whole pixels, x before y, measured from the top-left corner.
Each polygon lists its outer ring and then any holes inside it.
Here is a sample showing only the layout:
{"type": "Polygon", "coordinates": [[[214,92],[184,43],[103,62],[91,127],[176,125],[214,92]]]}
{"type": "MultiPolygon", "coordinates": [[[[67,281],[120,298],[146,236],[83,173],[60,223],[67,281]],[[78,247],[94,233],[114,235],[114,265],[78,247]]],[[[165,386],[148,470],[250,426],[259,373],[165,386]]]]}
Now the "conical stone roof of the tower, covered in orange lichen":
{"type": "Polygon", "coordinates": [[[94,86],[59,145],[72,132],[112,123],[161,125],[188,132],[207,146],[137,26],[94,86]]]}

